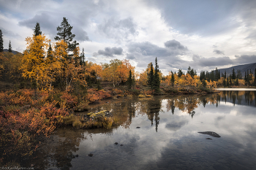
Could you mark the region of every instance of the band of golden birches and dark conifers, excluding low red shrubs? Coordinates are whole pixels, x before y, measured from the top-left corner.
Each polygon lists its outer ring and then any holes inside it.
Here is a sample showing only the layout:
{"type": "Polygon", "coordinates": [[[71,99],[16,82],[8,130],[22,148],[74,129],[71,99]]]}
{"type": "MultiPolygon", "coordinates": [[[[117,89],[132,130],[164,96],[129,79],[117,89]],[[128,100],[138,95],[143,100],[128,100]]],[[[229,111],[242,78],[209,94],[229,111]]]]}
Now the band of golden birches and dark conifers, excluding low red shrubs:
{"type": "MultiPolygon", "coordinates": [[[[9,52],[3,53],[3,34],[0,30],[0,73],[1,80],[6,82],[20,82],[20,88],[35,88],[36,90],[86,89],[101,82],[111,82],[113,88],[118,85],[127,85],[128,89],[147,87],[159,93],[165,86],[169,88],[214,88],[217,86],[229,87],[232,85],[256,85],[255,75],[252,71],[241,71],[237,74],[220,74],[219,70],[211,72],[202,71],[197,75],[190,66],[187,74],[181,69],[163,75],[159,70],[157,58],[155,64],[148,63],[143,72],[135,72],[135,67],[129,60],[110,60],[109,63],[92,63],[86,61],[84,50],[80,53],[79,43],[74,39],[72,26],[67,18],[63,18],[61,25],[56,28],[55,42],[42,34],[39,23],[34,27],[34,34],[26,38],[26,50],[12,54],[11,42],[9,52]],[[22,61],[22,62],[19,62],[22,61]]],[[[256,72],[256,69],[255,69],[256,72]]]]}

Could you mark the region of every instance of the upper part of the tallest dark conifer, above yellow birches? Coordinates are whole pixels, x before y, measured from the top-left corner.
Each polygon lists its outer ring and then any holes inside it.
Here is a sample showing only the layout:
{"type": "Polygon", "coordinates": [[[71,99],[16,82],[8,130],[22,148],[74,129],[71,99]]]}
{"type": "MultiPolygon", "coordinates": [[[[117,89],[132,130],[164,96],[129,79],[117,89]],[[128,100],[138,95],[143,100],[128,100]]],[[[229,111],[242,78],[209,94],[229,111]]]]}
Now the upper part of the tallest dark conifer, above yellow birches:
{"type": "Polygon", "coordinates": [[[75,47],[79,45],[79,43],[77,43],[76,41],[73,42],[75,34],[72,34],[72,28],[73,27],[70,26],[69,23],[67,22],[67,19],[63,18],[61,22],[61,26],[57,27],[58,36],[54,38],[56,41],[60,41],[61,39],[63,39],[64,42],[67,42],[67,45],[68,45],[67,52],[73,51],[75,47]]]}

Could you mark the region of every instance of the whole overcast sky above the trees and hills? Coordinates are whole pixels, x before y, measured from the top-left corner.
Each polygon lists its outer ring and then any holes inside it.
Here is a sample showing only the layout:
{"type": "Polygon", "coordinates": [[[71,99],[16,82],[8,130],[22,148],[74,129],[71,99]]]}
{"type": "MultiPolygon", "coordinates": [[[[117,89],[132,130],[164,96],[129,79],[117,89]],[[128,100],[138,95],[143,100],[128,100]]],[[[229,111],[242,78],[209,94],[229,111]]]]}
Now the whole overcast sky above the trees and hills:
{"type": "Polygon", "coordinates": [[[256,63],[255,16],[255,0],[0,0],[4,48],[26,50],[37,22],[54,42],[67,18],[87,61],[141,72],[157,58],[163,74],[256,63]]]}

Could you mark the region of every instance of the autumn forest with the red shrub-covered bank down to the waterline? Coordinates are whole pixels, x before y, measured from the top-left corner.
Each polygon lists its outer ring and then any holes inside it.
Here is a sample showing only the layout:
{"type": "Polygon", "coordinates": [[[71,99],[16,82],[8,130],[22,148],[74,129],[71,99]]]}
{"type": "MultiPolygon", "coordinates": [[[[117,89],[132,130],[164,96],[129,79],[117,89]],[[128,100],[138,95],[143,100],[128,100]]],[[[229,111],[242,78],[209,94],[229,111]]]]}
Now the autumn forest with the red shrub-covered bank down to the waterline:
{"type": "MultiPolygon", "coordinates": [[[[212,93],[219,87],[251,87],[256,85],[252,70],[242,77],[187,69],[187,73],[162,74],[157,58],[143,72],[136,72],[129,60],[109,63],[86,61],[84,50],[74,40],[72,26],[63,18],[55,41],[42,34],[39,23],[34,34],[26,38],[26,50],[12,53],[11,41],[4,51],[0,30],[0,164],[10,157],[31,155],[44,136],[55,128],[110,128],[121,120],[101,113],[88,120],[75,115],[89,104],[105,98],[139,98],[165,94],[212,93]],[[91,119],[97,117],[97,120],[91,119]]],[[[256,69],[255,69],[256,72],[256,69]]]]}

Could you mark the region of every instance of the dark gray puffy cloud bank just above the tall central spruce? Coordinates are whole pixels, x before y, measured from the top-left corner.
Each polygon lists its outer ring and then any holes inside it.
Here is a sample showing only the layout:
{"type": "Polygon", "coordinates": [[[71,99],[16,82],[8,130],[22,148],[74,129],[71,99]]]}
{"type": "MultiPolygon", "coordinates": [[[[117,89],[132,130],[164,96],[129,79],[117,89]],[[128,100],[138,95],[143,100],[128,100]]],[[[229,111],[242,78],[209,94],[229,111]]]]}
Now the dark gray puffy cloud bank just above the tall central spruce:
{"type": "Polygon", "coordinates": [[[165,74],[170,70],[175,71],[175,68],[187,69],[189,66],[189,61],[180,58],[181,55],[187,53],[187,47],[174,39],[165,42],[165,47],[159,47],[151,42],[132,42],[127,47],[129,52],[127,59],[135,59],[138,63],[136,68],[145,69],[148,63],[154,63],[156,57],[159,69],[164,70],[165,74]]]}

